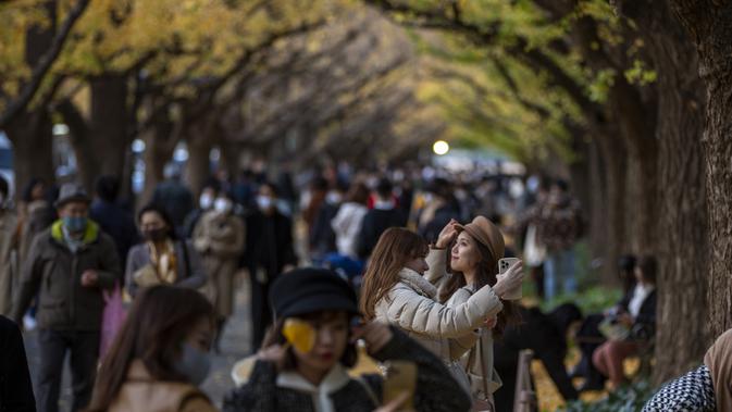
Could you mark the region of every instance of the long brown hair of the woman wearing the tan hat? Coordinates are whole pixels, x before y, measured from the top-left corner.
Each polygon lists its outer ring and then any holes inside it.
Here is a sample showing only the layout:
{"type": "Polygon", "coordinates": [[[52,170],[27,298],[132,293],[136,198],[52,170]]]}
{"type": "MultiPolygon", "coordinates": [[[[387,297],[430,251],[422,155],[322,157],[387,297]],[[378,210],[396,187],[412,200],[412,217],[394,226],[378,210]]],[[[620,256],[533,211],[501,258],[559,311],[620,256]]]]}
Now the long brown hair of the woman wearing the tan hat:
{"type": "MultiPolygon", "coordinates": [[[[468,236],[470,235],[468,234],[468,236]]],[[[491,287],[496,286],[497,282],[496,273],[498,272],[498,261],[504,257],[503,255],[494,257],[493,253],[491,253],[491,250],[485,245],[475,240],[472,236],[470,236],[470,238],[473,240],[473,245],[476,247],[481,255],[481,260],[477,263],[476,285],[474,285],[475,289],[480,289],[485,285],[489,285],[491,287]]],[[[452,295],[455,295],[455,292],[458,289],[466,286],[466,278],[462,275],[462,273],[452,272],[451,269],[449,267],[449,260],[447,265],[448,265],[447,270],[448,272],[452,273],[452,276],[450,276],[445,283],[445,286],[441,288],[439,301],[443,303],[446,302],[452,295]]],[[[521,314],[516,303],[503,299],[500,302],[504,304],[504,309],[500,312],[498,312],[498,322],[496,323],[496,326],[493,328],[493,335],[498,338],[504,335],[506,326],[514,325],[521,322],[521,314]]]]}

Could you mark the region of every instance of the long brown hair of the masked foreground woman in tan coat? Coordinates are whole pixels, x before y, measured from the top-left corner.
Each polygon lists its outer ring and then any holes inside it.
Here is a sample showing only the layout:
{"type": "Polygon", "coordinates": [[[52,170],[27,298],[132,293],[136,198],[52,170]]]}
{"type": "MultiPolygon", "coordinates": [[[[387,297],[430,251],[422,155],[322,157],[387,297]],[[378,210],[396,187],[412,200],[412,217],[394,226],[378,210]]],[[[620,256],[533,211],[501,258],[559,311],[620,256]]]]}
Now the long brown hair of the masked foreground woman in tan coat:
{"type": "Polygon", "coordinates": [[[154,380],[187,382],[173,365],[181,344],[201,319],[215,325],[213,307],[198,291],[162,285],[144,289],[102,361],[88,411],[110,408],[136,359],[154,380]]]}

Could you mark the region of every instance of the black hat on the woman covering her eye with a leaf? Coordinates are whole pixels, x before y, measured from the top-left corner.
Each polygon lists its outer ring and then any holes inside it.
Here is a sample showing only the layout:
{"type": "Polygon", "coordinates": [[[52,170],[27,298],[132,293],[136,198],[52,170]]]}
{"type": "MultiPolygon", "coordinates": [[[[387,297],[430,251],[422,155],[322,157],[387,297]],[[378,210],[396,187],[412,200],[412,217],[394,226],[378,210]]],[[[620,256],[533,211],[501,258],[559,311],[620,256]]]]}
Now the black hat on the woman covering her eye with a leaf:
{"type": "Polygon", "coordinates": [[[269,298],[278,319],[319,311],[358,313],[353,289],[325,269],[296,269],[281,275],[272,284],[269,298]]]}

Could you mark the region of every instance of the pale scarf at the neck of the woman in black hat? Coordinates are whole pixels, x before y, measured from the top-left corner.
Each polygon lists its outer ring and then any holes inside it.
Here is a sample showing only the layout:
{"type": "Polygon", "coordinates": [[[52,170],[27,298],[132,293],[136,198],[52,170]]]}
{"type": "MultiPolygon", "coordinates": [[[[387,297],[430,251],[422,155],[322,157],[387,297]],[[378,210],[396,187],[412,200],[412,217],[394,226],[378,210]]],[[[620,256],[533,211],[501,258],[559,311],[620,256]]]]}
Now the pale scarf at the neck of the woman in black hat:
{"type": "Polygon", "coordinates": [[[311,384],[294,371],[282,372],[277,375],[277,386],[310,395],[315,412],[335,412],[331,395],[344,388],[350,382],[346,369],[336,363],[325,375],[319,386],[311,384]]]}

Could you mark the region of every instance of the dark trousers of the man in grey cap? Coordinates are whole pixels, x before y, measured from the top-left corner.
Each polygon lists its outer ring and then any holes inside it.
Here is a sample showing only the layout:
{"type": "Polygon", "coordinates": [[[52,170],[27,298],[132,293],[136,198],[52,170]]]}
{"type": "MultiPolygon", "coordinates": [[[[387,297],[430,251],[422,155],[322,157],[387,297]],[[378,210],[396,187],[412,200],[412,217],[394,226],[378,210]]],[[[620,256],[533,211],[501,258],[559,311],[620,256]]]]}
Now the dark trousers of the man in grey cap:
{"type": "Polygon", "coordinates": [[[99,337],[98,330],[39,330],[38,411],[57,412],[59,410],[61,376],[66,351],[71,351],[71,376],[74,391],[72,411],[80,411],[88,405],[97,373],[99,337]]]}

